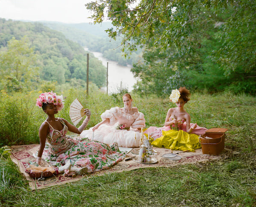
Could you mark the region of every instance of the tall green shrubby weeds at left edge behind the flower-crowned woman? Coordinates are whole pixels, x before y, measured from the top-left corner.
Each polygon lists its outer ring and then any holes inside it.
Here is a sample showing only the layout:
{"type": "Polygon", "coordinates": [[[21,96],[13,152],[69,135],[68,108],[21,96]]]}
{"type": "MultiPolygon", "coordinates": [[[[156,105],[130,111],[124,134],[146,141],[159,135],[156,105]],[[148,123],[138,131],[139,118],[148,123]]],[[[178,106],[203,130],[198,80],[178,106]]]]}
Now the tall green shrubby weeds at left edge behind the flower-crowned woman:
{"type": "Polygon", "coordinates": [[[33,143],[37,138],[35,103],[30,95],[0,95],[0,138],[3,145],[33,143]]]}

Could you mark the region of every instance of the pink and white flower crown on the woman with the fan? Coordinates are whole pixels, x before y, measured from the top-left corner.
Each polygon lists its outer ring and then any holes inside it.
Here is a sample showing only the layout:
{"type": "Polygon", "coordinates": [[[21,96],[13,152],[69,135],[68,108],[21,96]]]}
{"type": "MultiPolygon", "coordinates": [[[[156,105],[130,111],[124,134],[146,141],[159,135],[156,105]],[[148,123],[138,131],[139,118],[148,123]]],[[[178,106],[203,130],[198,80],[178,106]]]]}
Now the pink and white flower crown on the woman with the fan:
{"type": "Polygon", "coordinates": [[[58,111],[61,111],[64,107],[64,99],[63,96],[57,96],[56,93],[47,92],[43,93],[36,99],[36,105],[42,107],[43,103],[53,103],[57,106],[58,111]]]}

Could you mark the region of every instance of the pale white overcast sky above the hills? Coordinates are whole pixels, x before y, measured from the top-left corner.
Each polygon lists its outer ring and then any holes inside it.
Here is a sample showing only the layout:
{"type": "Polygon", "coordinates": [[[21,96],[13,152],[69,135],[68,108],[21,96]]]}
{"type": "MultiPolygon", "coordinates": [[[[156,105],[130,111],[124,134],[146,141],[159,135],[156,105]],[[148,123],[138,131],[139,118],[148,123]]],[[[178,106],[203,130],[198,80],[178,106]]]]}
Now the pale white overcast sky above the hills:
{"type": "Polygon", "coordinates": [[[84,4],[93,0],[0,0],[0,18],[63,23],[92,22],[84,4]]]}

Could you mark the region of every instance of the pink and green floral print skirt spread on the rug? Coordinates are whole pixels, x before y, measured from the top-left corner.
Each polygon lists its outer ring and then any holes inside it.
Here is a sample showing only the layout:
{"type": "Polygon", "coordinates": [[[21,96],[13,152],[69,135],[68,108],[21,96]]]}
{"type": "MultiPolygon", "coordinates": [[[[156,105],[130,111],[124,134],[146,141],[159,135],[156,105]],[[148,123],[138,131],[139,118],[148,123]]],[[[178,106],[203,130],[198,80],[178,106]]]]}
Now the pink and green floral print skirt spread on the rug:
{"type": "Polygon", "coordinates": [[[49,144],[46,143],[42,158],[57,167],[70,160],[72,166],[86,167],[88,173],[93,173],[110,168],[126,156],[125,153],[119,151],[116,143],[108,145],[79,137],[70,138],[69,142],[69,148],[57,155],[50,153],[49,144]]]}

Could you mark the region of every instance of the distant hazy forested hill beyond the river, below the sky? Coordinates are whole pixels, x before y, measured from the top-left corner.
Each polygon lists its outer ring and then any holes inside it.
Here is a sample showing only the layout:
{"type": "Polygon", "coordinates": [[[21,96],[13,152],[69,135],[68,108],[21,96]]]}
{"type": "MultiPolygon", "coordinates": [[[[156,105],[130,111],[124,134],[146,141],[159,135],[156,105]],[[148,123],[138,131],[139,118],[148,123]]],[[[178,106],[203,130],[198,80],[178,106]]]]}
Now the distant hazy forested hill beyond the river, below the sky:
{"type": "Polygon", "coordinates": [[[137,51],[129,53],[129,57],[125,57],[122,47],[119,47],[122,42],[121,38],[116,37],[116,40],[113,40],[108,37],[105,30],[113,27],[111,22],[103,22],[102,24],[67,24],[41,21],[40,23],[51,29],[60,31],[69,40],[79,43],[79,45],[88,48],[90,51],[101,52],[103,57],[116,61],[120,65],[132,65],[141,59],[142,50],[140,48],[137,51]]]}

